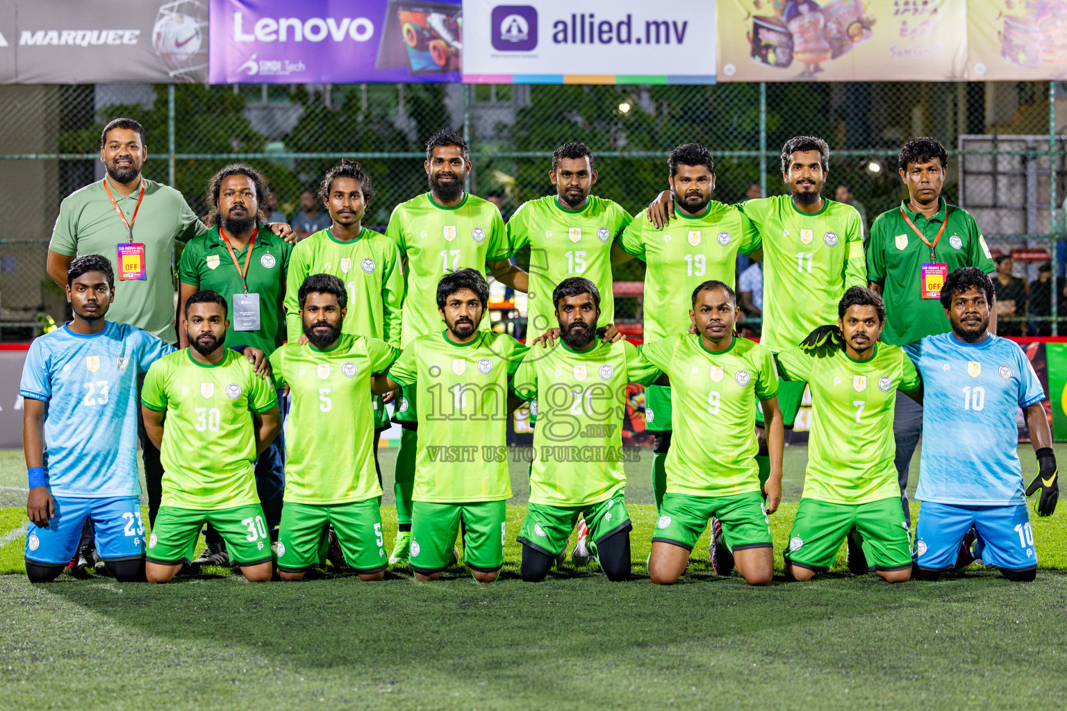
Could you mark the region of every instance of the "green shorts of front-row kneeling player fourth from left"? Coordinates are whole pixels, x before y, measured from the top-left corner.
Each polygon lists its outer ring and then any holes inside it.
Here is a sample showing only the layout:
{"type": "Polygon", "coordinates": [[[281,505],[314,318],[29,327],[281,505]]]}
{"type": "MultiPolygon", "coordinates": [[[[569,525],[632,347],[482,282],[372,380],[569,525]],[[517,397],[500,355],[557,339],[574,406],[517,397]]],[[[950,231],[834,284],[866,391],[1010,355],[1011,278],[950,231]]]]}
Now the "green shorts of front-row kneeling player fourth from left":
{"type": "Polygon", "coordinates": [[[411,569],[415,572],[427,576],[451,565],[461,520],[466,566],[479,572],[493,572],[504,566],[507,501],[414,501],[411,507],[411,569]]]}

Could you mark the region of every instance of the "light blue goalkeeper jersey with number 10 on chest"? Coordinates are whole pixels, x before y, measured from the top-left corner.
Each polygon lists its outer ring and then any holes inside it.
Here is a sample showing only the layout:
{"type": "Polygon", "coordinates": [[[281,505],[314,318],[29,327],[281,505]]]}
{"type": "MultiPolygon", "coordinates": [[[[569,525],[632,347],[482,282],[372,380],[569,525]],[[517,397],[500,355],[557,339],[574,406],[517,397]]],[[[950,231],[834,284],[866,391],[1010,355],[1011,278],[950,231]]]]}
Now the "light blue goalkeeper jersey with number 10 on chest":
{"type": "Polygon", "coordinates": [[[991,336],[951,333],[905,349],[923,376],[923,453],[915,498],[947,504],[1025,503],[1017,416],[1045,399],[1026,355],[991,336]]]}

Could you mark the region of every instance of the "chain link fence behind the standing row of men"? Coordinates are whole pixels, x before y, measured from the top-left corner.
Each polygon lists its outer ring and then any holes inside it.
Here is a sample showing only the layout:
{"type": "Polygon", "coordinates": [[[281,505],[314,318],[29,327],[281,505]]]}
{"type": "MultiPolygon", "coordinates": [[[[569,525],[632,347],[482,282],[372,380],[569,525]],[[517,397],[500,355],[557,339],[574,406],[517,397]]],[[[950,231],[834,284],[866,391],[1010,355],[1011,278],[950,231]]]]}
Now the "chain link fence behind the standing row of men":
{"type": "MultiPolygon", "coordinates": [[[[678,144],[706,145],[717,164],[716,199],[736,203],[783,193],[781,145],[821,135],[831,147],[824,195],[851,200],[866,226],[906,196],[896,174],[901,145],[933,135],[950,150],[945,197],[975,213],[994,252],[1015,257],[1016,281],[1005,275],[1005,288],[1029,291],[1008,333],[1067,332],[1058,317],[1067,313],[1065,257],[1053,256],[1067,196],[1063,84],[101,84],[3,86],[0,97],[0,210],[17,226],[0,237],[4,340],[32,337],[38,314],[66,314],[45,274],[48,239],[60,200],[102,177],[99,133],[118,115],[146,129],[144,174],[177,188],[200,214],[209,176],[227,162],[261,169],[277,209],[291,216],[328,166],[354,158],[376,183],[365,223],[377,229],[396,204],[426,190],[424,143],[442,128],[467,136],[471,190],[495,195],[505,217],[552,192],[551,153],[568,141],[593,149],[595,192],[636,213],[666,188],[667,153],[678,144]]],[[[639,281],[643,266],[627,262],[615,277],[639,281]]],[[[616,316],[638,320],[640,296],[621,296],[616,316]]]]}

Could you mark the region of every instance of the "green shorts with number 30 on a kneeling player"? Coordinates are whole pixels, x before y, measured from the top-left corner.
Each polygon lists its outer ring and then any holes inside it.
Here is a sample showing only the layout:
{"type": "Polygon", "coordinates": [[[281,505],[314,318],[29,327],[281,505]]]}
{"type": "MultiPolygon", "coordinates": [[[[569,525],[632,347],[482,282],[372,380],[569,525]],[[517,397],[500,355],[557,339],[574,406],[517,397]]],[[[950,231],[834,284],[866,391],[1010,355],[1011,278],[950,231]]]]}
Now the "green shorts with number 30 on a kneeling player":
{"type": "Polygon", "coordinates": [[[210,523],[226,542],[229,560],[238,565],[270,563],[270,535],[264,521],[257,503],[210,511],[160,506],[148,538],[148,562],[177,565],[191,559],[201,528],[210,523]]]}

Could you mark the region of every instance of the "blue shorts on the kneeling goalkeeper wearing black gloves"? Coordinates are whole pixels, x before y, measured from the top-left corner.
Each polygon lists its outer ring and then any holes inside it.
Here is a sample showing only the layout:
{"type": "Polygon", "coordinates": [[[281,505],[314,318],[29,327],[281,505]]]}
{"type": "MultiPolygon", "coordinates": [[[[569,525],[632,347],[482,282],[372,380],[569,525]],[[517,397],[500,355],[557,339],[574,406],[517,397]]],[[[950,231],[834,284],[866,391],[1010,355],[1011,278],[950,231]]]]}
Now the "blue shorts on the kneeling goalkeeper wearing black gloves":
{"type": "Polygon", "coordinates": [[[1007,570],[1037,567],[1034,532],[1025,503],[965,506],[923,501],[915,524],[915,562],[923,570],[951,570],[971,527],[978,534],[977,558],[1007,570]]]}

